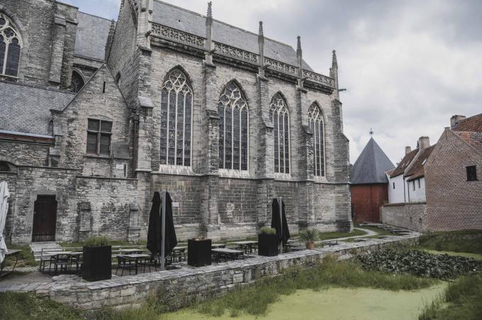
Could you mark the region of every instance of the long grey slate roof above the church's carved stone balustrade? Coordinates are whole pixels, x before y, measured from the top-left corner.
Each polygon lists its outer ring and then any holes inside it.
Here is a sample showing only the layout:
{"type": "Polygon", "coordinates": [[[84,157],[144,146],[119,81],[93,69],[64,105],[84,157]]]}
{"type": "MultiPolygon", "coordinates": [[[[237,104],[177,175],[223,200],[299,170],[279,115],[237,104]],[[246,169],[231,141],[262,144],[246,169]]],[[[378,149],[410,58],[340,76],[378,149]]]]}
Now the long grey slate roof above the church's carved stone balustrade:
{"type": "MultiPolygon", "coordinates": [[[[206,38],[206,16],[159,0],[154,1],[152,10],[152,22],[206,38]]],[[[257,33],[215,19],[213,19],[213,40],[255,54],[258,53],[257,33]]],[[[293,66],[297,64],[296,50],[291,45],[266,37],[264,38],[264,56],[293,66]]],[[[303,69],[313,71],[304,61],[303,69]]]]}

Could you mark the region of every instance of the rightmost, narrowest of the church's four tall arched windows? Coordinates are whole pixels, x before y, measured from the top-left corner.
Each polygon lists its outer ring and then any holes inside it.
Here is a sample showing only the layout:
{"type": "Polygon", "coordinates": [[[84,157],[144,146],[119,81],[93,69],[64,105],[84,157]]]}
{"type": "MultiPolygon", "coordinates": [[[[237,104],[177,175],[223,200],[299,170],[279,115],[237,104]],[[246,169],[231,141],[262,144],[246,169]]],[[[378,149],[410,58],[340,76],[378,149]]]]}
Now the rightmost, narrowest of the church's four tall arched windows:
{"type": "Polygon", "coordinates": [[[320,106],[313,103],[308,109],[310,128],[313,132],[313,156],[315,176],[325,176],[325,126],[320,106]]]}

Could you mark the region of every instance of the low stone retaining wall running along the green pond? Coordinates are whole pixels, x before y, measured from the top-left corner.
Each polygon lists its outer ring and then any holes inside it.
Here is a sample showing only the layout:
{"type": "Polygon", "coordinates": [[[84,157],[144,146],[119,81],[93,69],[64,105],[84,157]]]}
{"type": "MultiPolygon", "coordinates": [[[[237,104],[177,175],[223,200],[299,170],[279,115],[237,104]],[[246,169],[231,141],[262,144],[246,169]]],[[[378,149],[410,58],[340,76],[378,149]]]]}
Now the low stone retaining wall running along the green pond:
{"type": "Polygon", "coordinates": [[[48,282],[0,282],[0,292],[35,292],[82,309],[137,304],[153,290],[166,292],[166,299],[174,299],[177,304],[179,299],[189,303],[212,295],[223,295],[236,285],[254,282],[264,275],[279,275],[293,265],[308,267],[328,254],[338,259],[347,259],[396,243],[415,243],[419,236],[417,232],[408,232],[405,235],[385,236],[383,239],[366,239],[362,242],[283,253],[276,257],[256,256],[201,268],[183,266],[176,270],[113,277],[111,280],[96,282],[86,282],[72,275],[57,276],[48,282]]]}

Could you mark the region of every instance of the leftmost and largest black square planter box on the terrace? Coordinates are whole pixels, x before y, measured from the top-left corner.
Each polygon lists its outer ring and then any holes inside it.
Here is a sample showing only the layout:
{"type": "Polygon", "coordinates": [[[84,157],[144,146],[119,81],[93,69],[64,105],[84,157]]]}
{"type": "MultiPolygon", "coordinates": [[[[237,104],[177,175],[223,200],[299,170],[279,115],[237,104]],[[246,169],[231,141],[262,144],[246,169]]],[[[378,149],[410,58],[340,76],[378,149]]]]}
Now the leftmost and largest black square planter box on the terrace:
{"type": "Polygon", "coordinates": [[[87,281],[107,280],[112,277],[112,247],[84,246],[82,279],[87,281]]]}

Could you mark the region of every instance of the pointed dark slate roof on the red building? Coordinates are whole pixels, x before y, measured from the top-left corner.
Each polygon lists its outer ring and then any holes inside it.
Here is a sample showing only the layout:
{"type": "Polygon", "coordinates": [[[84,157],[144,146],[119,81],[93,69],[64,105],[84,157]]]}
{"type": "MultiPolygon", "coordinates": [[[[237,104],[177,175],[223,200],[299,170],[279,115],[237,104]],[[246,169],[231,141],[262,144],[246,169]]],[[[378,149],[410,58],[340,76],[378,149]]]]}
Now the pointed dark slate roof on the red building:
{"type": "Polygon", "coordinates": [[[385,172],[394,167],[375,139],[370,138],[352,167],[350,180],[352,184],[388,183],[385,172]]]}

